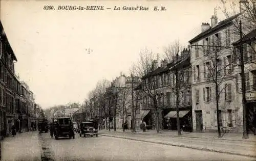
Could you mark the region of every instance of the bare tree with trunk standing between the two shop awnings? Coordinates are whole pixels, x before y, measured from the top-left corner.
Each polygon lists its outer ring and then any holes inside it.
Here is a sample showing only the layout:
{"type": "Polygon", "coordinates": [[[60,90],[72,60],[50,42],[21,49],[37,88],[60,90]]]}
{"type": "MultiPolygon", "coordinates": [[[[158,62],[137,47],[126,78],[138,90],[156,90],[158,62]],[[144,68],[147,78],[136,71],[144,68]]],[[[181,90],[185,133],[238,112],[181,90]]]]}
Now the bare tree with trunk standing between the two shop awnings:
{"type": "Polygon", "coordinates": [[[155,111],[155,121],[156,121],[156,131],[160,132],[160,122],[159,122],[159,108],[158,108],[158,87],[157,87],[157,77],[154,75],[154,70],[158,68],[157,62],[159,58],[156,57],[152,51],[147,48],[140,52],[140,57],[137,65],[134,68],[134,75],[141,78],[141,90],[143,95],[145,95],[148,100],[151,100],[149,108],[155,111]]]}

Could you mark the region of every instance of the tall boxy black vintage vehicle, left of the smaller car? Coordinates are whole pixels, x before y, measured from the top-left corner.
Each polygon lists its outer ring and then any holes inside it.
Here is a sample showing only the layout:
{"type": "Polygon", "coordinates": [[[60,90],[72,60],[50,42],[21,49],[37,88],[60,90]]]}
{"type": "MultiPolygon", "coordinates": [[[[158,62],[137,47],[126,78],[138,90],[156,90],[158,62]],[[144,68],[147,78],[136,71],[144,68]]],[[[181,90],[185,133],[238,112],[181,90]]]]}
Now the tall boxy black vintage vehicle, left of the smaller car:
{"type": "Polygon", "coordinates": [[[75,132],[73,130],[73,123],[69,117],[57,118],[57,121],[54,122],[55,130],[54,137],[58,139],[59,137],[69,137],[75,139],[75,132]]]}

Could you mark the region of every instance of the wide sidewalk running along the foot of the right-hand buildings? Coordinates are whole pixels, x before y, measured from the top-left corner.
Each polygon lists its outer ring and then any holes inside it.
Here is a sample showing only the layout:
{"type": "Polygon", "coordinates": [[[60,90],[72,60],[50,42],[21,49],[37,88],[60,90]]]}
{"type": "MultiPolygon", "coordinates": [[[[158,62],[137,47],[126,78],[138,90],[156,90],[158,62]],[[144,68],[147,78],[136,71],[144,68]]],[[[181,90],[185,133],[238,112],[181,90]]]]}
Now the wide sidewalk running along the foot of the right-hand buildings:
{"type": "Polygon", "coordinates": [[[118,129],[117,131],[100,130],[99,135],[256,158],[254,136],[249,136],[250,140],[244,141],[242,140],[242,134],[233,133],[226,136],[226,138],[218,139],[217,133],[183,132],[183,136],[180,137],[177,136],[176,131],[156,133],[154,130],[149,130],[132,133],[131,130],[123,132],[118,129]]]}

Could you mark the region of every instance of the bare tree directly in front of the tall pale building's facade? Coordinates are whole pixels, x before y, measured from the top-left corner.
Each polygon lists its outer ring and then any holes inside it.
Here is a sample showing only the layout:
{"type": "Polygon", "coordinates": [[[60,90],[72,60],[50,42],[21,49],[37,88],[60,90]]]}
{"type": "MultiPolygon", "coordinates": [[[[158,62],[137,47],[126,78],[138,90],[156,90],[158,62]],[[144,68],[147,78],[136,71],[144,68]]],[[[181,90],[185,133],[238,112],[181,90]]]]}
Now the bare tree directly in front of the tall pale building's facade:
{"type": "MultiPolygon", "coordinates": [[[[215,103],[217,113],[217,128],[218,136],[221,138],[221,122],[220,122],[220,98],[225,94],[225,101],[232,100],[231,84],[230,81],[234,80],[234,59],[232,48],[221,46],[221,40],[215,35],[212,36],[212,40],[208,42],[209,45],[196,46],[199,50],[202,50],[204,56],[201,57],[202,64],[204,66],[203,73],[205,81],[214,86],[215,91],[215,103]],[[223,86],[224,85],[224,86],[223,86]]],[[[195,67],[194,67],[195,68],[195,67]]],[[[196,69],[194,69],[195,74],[196,69]]],[[[196,76],[194,76],[196,78],[196,76]]],[[[206,89],[203,89],[203,99],[206,102],[211,101],[211,85],[206,89]],[[206,91],[205,91],[206,90],[206,91]]]]}

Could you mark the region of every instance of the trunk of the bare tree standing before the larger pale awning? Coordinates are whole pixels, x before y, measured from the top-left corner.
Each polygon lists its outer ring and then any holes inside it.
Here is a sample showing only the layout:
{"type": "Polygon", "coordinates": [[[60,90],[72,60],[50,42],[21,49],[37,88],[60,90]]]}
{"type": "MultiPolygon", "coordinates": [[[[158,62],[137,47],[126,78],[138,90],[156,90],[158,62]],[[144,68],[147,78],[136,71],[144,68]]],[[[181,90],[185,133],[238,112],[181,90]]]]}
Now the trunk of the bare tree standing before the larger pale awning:
{"type": "Polygon", "coordinates": [[[181,136],[181,129],[180,129],[180,116],[179,116],[179,105],[180,105],[180,89],[178,86],[178,82],[179,82],[179,75],[178,75],[178,70],[176,69],[175,71],[175,75],[176,75],[176,84],[175,84],[175,93],[176,93],[176,119],[177,119],[177,130],[178,130],[178,136],[181,136]]]}

